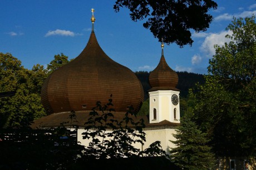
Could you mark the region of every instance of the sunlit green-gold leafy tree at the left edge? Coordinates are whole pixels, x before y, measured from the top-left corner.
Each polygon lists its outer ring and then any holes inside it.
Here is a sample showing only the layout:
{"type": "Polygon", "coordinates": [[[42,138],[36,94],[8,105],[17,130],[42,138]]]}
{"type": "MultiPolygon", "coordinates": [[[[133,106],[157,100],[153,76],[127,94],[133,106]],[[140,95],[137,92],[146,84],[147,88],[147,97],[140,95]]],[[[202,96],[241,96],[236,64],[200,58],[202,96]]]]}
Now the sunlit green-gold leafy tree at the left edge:
{"type": "Polygon", "coordinates": [[[11,54],[0,53],[0,92],[16,92],[0,99],[0,127],[28,126],[46,115],[40,97],[45,73],[40,65],[28,70],[11,54]]]}

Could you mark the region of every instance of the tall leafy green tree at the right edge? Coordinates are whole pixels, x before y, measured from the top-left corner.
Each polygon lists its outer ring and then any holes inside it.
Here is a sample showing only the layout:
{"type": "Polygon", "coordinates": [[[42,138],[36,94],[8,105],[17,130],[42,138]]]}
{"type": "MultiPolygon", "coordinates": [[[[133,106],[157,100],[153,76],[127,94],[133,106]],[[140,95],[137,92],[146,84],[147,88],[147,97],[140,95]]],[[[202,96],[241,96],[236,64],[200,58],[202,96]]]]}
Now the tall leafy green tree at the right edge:
{"type": "Polygon", "coordinates": [[[208,132],[219,156],[255,155],[256,144],[256,24],[255,17],[234,18],[227,28],[231,40],[215,45],[206,83],[191,96],[194,115],[208,132]]]}

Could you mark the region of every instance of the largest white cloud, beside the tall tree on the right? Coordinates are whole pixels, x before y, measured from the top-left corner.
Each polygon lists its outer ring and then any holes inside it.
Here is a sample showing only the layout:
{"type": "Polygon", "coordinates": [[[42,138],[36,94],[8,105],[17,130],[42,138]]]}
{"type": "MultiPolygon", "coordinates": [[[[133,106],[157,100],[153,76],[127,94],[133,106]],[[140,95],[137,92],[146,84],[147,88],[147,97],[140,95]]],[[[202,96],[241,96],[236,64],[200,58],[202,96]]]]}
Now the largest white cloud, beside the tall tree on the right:
{"type": "Polygon", "coordinates": [[[215,54],[214,45],[218,44],[222,46],[225,42],[230,42],[229,39],[225,38],[225,35],[232,35],[232,31],[223,31],[220,33],[210,33],[204,40],[203,44],[200,47],[200,50],[206,54],[206,56],[210,57],[215,54]]]}

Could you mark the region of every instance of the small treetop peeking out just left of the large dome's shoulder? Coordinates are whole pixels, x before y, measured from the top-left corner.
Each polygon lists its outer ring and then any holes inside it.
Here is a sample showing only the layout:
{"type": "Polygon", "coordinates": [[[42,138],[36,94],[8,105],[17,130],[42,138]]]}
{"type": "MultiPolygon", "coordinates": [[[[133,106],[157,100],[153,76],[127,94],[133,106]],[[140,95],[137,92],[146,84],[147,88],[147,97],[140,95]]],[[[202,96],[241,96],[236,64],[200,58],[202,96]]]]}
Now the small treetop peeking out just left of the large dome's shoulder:
{"type": "Polygon", "coordinates": [[[47,65],[48,74],[51,74],[53,71],[60,68],[62,65],[67,64],[68,56],[64,55],[63,53],[57,54],[54,56],[54,59],[47,65]]]}

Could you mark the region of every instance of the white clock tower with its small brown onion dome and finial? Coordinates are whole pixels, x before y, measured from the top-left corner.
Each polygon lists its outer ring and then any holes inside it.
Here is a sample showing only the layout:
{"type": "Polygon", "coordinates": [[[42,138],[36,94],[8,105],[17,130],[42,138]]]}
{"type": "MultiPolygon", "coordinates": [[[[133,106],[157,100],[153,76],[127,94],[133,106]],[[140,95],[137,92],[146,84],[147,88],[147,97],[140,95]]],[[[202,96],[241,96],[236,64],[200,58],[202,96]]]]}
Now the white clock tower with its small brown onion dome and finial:
{"type": "Polygon", "coordinates": [[[164,58],[164,43],[159,64],[149,75],[149,121],[159,123],[167,120],[180,123],[179,93],[177,73],[169,67],[164,58]]]}

